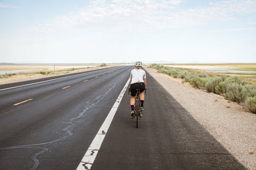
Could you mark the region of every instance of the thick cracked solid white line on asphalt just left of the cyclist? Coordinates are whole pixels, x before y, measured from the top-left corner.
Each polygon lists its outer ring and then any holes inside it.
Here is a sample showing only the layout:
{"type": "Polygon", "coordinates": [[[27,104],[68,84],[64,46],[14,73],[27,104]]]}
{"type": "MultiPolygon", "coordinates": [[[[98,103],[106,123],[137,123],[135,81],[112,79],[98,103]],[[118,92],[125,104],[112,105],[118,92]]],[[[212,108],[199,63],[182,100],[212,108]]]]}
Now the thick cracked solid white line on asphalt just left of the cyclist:
{"type": "Polygon", "coordinates": [[[110,110],[108,116],[106,116],[103,124],[101,125],[101,127],[99,128],[98,133],[96,134],[96,136],[94,137],[92,143],[90,144],[90,147],[88,148],[88,150],[86,151],[86,154],[84,154],[81,162],[79,163],[79,165],[77,166],[77,170],[80,169],[91,169],[93,162],[99,152],[99,149],[101,147],[101,143],[104,140],[105,135],[108,133],[108,129],[111,125],[111,122],[116,114],[117,108],[123,98],[123,95],[125,93],[125,90],[128,86],[130,82],[130,79],[126,82],[126,84],[124,85],[122,91],[120,92],[120,94],[117,97],[117,100],[115,102],[115,104],[113,105],[112,109],[110,110]]]}

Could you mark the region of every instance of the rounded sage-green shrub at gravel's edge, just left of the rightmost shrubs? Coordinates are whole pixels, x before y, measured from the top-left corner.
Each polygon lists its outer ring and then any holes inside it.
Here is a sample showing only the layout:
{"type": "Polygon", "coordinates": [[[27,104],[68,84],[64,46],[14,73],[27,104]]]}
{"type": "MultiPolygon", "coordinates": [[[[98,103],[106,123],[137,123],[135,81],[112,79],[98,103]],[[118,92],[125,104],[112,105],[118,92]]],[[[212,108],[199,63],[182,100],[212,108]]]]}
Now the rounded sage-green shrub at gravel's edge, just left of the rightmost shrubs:
{"type": "Polygon", "coordinates": [[[238,102],[238,103],[243,102],[245,99],[244,99],[244,95],[241,93],[242,89],[243,89],[242,84],[239,84],[237,82],[229,83],[227,85],[227,92],[225,93],[225,99],[233,102],[238,102]]]}

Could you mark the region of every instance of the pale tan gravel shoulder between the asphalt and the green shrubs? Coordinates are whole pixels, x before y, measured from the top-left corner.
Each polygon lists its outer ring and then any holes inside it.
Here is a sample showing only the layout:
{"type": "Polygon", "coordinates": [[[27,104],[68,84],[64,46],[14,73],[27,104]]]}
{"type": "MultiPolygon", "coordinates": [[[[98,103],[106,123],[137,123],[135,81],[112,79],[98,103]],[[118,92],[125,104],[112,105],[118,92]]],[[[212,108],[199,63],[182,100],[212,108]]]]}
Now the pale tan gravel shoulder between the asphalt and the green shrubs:
{"type": "Polygon", "coordinates": [[[159,74],[156,69],[145,70],[244,166],[256,169],[256,114],[223,96],[159,74]]]}

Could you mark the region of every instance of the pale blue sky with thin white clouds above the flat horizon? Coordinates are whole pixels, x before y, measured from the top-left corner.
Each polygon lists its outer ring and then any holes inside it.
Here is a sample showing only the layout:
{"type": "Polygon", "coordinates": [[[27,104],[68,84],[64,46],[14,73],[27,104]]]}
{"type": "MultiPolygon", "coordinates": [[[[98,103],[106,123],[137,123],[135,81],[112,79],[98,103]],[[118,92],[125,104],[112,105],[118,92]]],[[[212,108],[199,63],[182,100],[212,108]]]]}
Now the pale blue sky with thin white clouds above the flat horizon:
{"type": "Polygon", "coordinates": [[[256,0],[0,0],[0,63],[256,63],[256,0]]]}

